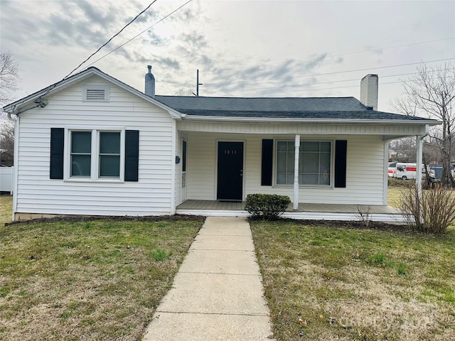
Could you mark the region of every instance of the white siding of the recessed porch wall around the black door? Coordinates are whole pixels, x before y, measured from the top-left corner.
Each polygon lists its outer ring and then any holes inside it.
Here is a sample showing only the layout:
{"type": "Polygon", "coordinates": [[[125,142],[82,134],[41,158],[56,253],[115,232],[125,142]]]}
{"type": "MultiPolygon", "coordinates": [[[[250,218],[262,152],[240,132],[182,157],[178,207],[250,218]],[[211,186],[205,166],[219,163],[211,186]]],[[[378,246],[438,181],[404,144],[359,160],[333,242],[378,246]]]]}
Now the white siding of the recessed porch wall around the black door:
{"type": "MultiPolygon", "coordinates": [[[[188,200],[216,200],[216,141],[244,140],[244,199],[247,194],[266,193],[288,195],[294,190],[287,186],[261,185],[262,139],[282,141],[293,139],[286,135],[215,134],[190,132],[188,141],[188,200]]],[[[347,140],[346,188],[329,186],[303,186],[299,190],[299,202],[383,205],[384,141],[381,136],[320,136],[327,140],[347,140]]],[[[314,139],[301,136],[301,140],[314,139]]],[[[332,145],[333,148],[333,145],[332,145]]],[[[274,153],[275,153],[274,149],[274,153]]],[[[333,169],[333,168],[332,168],[333,169]]],[[[274,175],[275,176],[275,175],[274,175]]]]}

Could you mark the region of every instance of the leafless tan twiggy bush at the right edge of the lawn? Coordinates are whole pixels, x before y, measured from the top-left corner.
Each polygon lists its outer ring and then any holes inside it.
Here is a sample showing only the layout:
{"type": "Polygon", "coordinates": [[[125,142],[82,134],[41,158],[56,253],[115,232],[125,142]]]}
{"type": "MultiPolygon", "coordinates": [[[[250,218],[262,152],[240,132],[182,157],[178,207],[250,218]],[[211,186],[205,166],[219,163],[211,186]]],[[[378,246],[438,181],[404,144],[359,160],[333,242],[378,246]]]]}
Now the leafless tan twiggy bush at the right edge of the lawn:
{"type": "Polygon", "coordinates": [[[419,198],[414,185],[403,190],[399,205],[409,226],[420,232],[441,234],[455,222],[455,193],[451,188],[436,185],[422,190],[419,198]]]}

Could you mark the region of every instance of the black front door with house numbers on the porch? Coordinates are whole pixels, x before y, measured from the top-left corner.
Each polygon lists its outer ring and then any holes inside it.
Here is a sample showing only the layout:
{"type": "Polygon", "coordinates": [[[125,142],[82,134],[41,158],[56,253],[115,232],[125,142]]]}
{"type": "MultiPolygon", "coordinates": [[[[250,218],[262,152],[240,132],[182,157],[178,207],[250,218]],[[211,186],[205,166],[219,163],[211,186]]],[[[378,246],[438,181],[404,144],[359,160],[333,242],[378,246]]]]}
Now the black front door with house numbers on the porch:
{"type": "Polygon", "coordinates": [[[218,142],[218,191],[220,200],[242,200],[243,142],[218,142]]]}

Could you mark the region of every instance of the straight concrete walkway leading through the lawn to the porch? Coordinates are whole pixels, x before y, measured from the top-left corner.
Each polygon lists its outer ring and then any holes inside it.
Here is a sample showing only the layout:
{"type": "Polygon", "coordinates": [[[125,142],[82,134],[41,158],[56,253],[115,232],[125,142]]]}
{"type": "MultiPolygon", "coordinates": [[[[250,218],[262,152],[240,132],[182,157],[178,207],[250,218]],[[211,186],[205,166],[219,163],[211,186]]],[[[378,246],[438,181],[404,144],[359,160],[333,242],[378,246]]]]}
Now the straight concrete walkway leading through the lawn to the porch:
{"type": "Polygon", "coordinates": [[[247,220],[208,217],[143,340],[270,340],[261,279],[247,220]]]}

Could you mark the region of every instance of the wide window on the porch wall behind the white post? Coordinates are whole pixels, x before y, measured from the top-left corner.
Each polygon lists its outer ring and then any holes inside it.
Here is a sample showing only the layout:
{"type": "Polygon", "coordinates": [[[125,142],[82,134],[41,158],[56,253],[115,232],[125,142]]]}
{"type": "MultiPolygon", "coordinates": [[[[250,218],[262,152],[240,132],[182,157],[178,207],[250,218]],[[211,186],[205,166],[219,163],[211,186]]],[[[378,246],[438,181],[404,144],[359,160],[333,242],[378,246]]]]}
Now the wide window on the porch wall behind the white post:
{"type": "MultiPolygon", "coordinates": [[[[331,185],[331,141],[301,141],[299,185],[331,185]]],[[[294,141],[277,141],[277,185],[294,183],[294,141]]]]}

